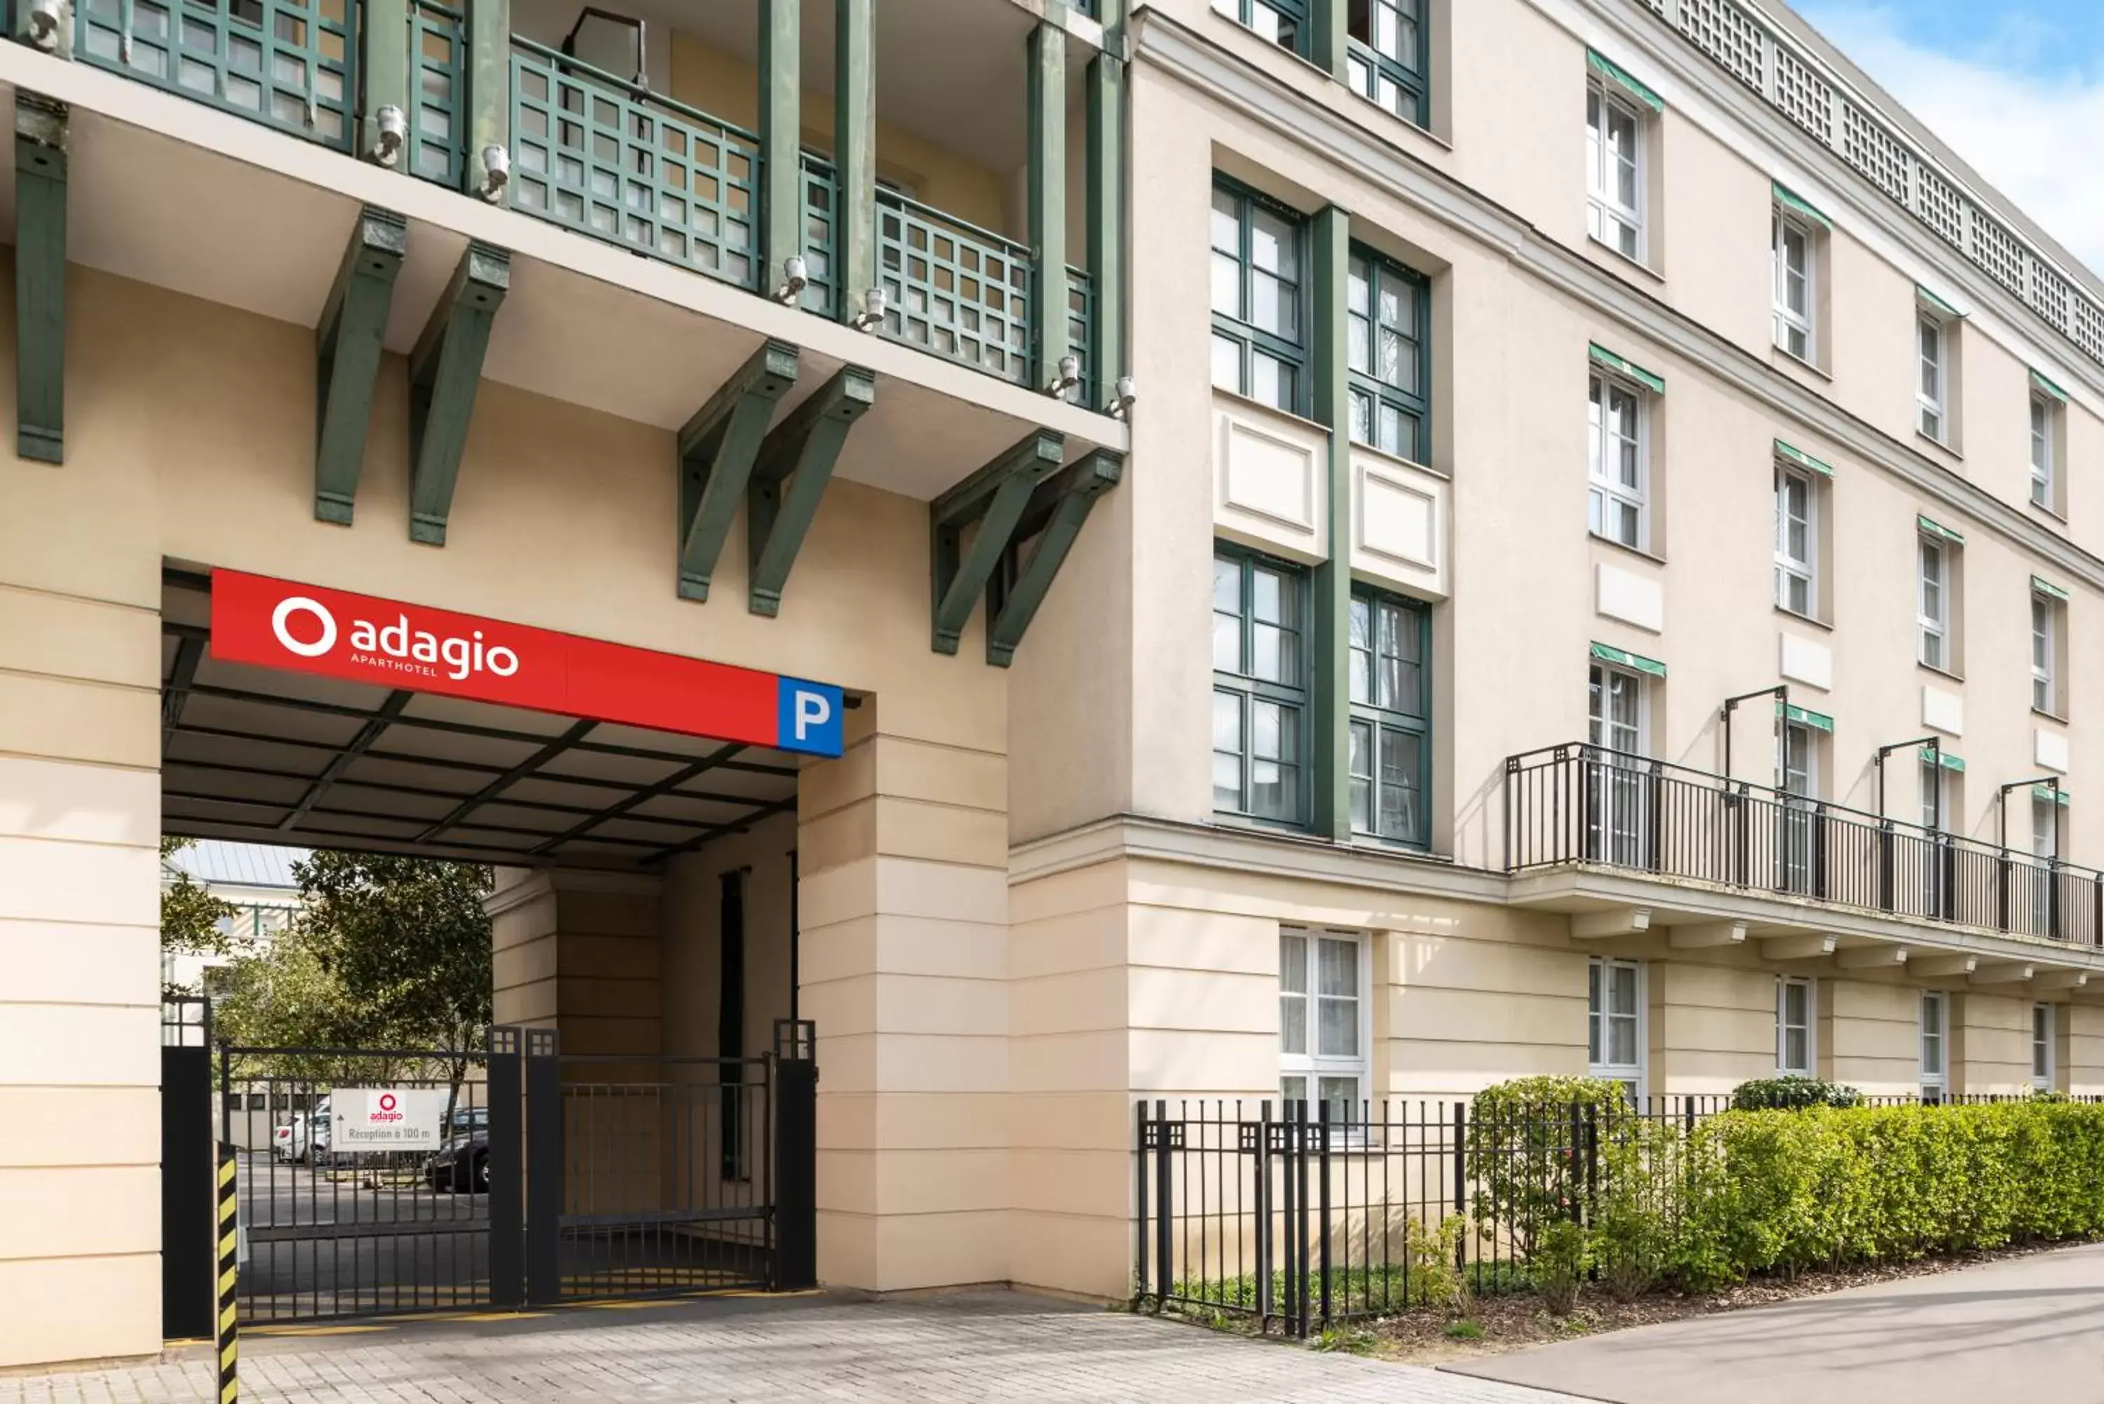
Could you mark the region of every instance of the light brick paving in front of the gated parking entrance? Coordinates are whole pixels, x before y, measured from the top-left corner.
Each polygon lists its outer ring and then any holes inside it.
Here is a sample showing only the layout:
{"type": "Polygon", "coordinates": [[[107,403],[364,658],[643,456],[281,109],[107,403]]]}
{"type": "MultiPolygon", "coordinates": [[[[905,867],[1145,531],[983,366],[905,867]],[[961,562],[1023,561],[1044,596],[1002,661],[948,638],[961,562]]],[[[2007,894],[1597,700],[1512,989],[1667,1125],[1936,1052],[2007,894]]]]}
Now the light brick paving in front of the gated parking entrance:
{"type": "MultiPolygon", "coordinates": [[[[1012,1292],[915,1301],[711,1299],[534,1320],[414,1322],[360,1335],[250,1335],[242,1343],[242,1398],[286,1404],[1578,1404],[1563,1393],[1012,1292]]],[[[0,1404],[213,1400],[213,1362],[202,1347],[156,1364],[0,1375],[0,1404]]]]}

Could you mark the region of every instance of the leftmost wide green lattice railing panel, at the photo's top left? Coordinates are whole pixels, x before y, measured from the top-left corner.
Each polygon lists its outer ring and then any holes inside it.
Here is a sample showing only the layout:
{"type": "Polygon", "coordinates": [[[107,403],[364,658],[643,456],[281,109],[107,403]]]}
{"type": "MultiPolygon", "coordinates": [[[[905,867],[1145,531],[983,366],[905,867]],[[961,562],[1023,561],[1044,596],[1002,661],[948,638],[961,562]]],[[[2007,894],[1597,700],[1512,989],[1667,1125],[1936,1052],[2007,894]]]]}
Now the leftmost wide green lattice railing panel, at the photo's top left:
{"type": "Polygon", "coordinates": [[[78,0],[80,59],[351,149],[353,0],[78,0]]]}

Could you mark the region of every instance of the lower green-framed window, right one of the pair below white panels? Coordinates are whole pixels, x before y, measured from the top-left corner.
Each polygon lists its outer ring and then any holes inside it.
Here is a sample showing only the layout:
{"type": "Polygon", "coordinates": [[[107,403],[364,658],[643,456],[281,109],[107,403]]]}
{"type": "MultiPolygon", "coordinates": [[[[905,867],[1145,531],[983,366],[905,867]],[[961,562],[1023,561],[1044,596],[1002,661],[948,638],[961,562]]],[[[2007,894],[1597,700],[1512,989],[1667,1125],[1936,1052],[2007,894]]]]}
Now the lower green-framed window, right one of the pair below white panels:
{"type": "Polygon", "coordinates": [[[1431,610],[1351,594],[1351,827],[1412,848],[1431,834],[1431,610]]]}

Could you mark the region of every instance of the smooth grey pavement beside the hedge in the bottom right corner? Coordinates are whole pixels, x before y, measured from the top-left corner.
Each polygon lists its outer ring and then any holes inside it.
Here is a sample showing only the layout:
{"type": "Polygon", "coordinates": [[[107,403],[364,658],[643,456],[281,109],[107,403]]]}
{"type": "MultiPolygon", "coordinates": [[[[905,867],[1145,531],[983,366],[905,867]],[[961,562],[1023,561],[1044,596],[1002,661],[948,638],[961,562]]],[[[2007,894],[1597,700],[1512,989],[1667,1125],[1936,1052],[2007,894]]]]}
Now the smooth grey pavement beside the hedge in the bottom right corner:
{"type": "Polygon", "coordinates": [[[2100,1404],[2104,1244],[1456,1368],[1614,1404],[2100,1404]]]}

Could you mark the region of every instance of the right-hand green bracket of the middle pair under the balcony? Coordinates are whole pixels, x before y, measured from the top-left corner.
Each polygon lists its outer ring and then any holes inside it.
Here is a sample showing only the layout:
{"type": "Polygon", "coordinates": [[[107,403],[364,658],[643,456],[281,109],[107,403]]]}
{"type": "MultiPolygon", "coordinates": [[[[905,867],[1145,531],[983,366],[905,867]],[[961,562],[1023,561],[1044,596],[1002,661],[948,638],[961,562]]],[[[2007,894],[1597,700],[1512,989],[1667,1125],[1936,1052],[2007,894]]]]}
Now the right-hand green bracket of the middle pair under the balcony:
{"type": "Polygon", "coordinates": [[[760,444],[751,486],[745,490],[749,608],[755,615],[772,619],[781,613],[789,566],[795,564],[804,533],[818,514],[818,499],[833,478],[833,463],[848,442],[848,429],[875,400],[875,370],[842,366],[760,444]]]}

